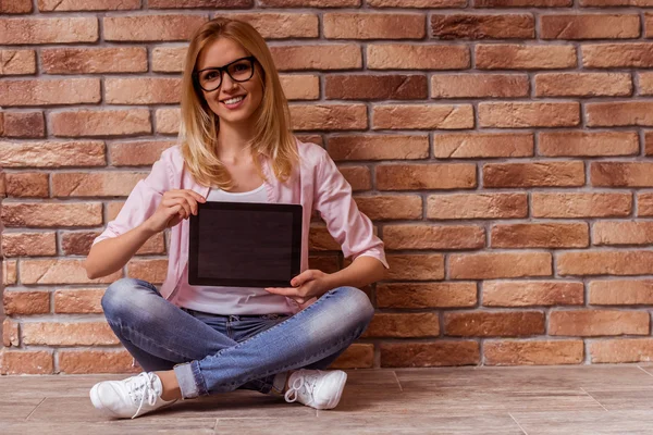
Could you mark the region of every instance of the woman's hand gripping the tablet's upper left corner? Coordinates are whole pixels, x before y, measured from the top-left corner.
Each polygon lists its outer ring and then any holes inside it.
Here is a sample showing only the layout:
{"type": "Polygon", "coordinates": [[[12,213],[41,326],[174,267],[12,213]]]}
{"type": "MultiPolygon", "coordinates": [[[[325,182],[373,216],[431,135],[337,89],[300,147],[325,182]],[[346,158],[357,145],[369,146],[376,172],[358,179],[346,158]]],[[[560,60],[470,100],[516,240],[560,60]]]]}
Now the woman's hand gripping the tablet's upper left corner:
{"type": "Polygon", "coordinates": [[[206,201],[205,197],[190,189],[169,190],[163,194],[159,207],[146,224],[151,231],[160,233],[188,219],[192,213],[197,215],[197,203],[206,201]]]}

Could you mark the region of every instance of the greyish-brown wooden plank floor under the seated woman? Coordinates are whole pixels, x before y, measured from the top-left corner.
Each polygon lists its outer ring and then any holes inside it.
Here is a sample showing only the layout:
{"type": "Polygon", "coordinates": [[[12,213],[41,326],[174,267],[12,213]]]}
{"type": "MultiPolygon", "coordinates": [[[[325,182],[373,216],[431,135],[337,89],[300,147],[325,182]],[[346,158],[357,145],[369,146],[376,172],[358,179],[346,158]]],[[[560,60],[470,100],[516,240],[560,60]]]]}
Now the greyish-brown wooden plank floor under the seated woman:
{"type": "Polygon", "coordinates": [[[135,420],[88,398],[124,375],[0,377],[0,434],[652,434],[653,364],[348,371],[330,411],[238,390],[135,420]]]}

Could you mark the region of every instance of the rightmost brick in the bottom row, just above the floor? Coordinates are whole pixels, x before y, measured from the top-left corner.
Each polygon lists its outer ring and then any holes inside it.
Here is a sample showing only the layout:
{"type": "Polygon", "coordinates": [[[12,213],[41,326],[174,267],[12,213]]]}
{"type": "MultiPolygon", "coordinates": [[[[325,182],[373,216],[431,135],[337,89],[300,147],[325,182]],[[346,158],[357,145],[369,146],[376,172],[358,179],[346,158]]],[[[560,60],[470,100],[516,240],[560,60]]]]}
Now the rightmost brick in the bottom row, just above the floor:
{"type": "Polygon", "coordinates": [[[592,340],[589,345],[592,363],[649,362],[653,359],[653,339],[613,338],[592,340]]]}

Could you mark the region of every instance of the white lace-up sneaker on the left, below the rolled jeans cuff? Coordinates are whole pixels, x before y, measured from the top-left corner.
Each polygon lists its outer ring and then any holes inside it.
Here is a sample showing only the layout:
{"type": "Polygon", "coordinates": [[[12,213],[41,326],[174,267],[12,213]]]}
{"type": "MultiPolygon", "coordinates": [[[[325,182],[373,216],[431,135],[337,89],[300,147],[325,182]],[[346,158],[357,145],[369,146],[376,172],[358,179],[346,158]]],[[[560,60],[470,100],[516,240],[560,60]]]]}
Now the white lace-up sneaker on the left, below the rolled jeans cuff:
{"type": "Polygon", "coordinates": [[[153,372],[143,372],[123,381],[104,381],[90,388],[90,401],[109,417],[132,419],[175,400],[163,400],[163,385],[153,372]]]}

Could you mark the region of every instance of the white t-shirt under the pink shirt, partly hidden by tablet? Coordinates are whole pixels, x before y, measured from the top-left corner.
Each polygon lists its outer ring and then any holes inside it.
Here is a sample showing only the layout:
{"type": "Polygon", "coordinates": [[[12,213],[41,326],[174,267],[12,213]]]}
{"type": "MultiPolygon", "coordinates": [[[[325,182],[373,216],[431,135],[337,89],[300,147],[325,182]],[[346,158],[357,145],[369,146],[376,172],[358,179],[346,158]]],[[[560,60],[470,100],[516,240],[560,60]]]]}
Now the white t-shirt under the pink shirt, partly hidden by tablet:
{"type": "MultiPolygon", "coordinates": [[[[229,192],[211,188],[207,202],[268,202],[266,185],[255,190],[229,192]]],[[[273,295],[258,287],[192,286],[188,284],[188,265],[181,279],[183,291],[178,293],[181,307],[213,314],[292,314],[293,308],[285,296],[273,295]]]]}

